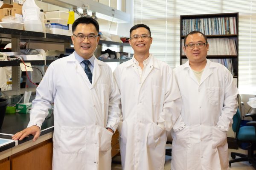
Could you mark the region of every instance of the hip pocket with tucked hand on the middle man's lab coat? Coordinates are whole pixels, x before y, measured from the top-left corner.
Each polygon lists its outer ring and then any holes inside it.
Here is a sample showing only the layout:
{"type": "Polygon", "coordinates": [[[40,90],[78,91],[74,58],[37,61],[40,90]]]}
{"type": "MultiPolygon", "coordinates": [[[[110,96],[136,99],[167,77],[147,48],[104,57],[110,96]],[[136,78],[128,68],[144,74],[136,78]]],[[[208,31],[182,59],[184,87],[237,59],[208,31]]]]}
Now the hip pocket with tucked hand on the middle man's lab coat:
{"type": "Polygon", "coordinates": [[[164,130],[160,126],[152,122],[148,132],[147,147],[156,147],[163,131],[164,130]]]}

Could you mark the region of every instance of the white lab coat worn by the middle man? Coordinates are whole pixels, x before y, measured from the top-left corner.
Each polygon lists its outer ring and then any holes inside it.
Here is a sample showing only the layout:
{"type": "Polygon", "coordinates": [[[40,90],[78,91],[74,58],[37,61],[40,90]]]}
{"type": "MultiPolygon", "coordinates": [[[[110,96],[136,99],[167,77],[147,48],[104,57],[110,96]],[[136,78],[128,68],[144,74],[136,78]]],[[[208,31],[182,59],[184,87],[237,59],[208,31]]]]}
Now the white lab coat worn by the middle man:
{"type": "Polygon", "coordinates": [[[153,56],[148,67],[142,81],[132,59],[114,71],[122,103],[118,130],[124,170],[163,170],[166,130],[180,115],[181,97],[172,69],[153,56]]]}

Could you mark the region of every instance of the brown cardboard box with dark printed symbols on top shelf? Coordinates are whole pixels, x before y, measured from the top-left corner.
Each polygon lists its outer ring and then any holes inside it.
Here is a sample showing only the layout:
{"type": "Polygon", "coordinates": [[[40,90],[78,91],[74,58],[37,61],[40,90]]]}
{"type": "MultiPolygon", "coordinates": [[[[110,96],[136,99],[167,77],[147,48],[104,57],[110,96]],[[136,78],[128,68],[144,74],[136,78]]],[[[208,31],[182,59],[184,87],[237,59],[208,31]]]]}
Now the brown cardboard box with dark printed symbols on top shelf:
{"type": "MultiPolygon", "coordinates": [[[[13,8],[12,5],[3,3],[0,8],[0,19],[7,16],[14,16],[15,14],[22,14],[21,7],[20,8],[13,8]]],[[[1,20],[2,21],[2,20],[1,20]]]]}

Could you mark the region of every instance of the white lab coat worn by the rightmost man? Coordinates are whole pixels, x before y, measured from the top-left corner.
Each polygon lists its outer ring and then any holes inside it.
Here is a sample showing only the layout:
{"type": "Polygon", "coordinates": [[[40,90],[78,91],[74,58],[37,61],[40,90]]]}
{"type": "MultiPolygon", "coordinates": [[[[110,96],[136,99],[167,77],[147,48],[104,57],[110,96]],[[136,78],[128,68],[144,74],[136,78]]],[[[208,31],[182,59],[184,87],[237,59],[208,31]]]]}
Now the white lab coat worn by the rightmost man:
{"type": "Polygon", "coordinates": [[[224,65],[211,62],[195,77],[189,62],[174,69],[182,97],[173,127],[172,170],[227,170],[227,130],[236,113],[238,90],[224,65]]]}

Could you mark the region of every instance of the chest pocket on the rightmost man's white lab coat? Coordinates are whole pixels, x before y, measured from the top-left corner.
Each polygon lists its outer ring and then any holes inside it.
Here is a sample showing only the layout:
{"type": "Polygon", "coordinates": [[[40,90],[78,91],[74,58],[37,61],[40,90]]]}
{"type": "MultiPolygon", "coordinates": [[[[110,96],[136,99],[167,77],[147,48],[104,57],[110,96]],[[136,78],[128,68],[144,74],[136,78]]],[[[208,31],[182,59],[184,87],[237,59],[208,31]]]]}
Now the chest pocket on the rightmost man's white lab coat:
{"type": "Polygon", "coordinates": [[[206,94],[211,105],[219,105],[222,95],[222,89],[220,87],[208,87],[206,88],[206,94]]]}

